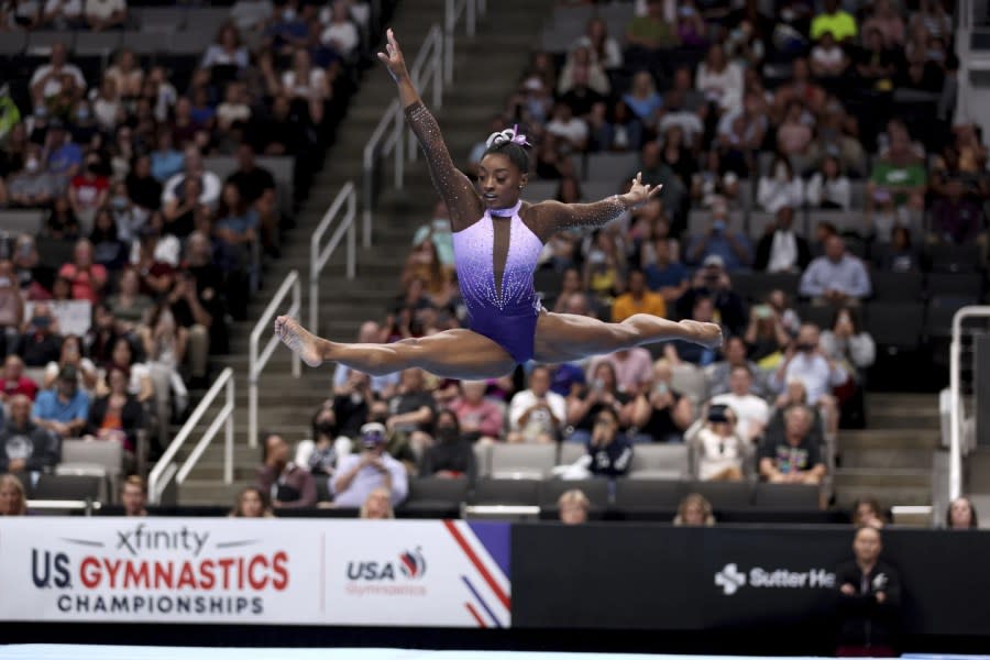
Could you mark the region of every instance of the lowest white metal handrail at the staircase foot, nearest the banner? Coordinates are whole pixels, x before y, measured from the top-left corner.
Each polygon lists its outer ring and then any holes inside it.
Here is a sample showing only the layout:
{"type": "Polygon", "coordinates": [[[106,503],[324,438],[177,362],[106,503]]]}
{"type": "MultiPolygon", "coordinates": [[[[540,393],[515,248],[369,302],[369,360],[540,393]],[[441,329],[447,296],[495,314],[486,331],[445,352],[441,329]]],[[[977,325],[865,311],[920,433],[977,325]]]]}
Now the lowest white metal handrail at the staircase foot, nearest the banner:
{"type": "Polygon", "coordinates": [[[220,372],[220,375],[202,397],[202,400],[199,402],[199,405],[196,406],[196,409],[189,416],[189,419],[186,420],[186,424],[184,424],[183,428],[179,429],[179,432],[176,433],[172,443],[168,446],[168,449],[165,450],[165,453],[162,454],[162,458],[158,459],[158,462],[152,468],[151,474],[147,477],[147,496],[152,504],[161,503],[162,495],[165,493],[165,488],[168,487],[168,484],[172,483],[173,477],[175,477],[175,482],[179,485],[186,481],[186,477],[189,476],[189,472],[196,466],[202,452],[206,451],[206,448],[213,441],[213,437],[220,431],[221,426],[224,429],[223,483],[228,485],[233,483],[233,413],[234,377],[233,370],[228,366],[220,372]],[[178,453],[178,450],[182,449],[186,440],[189,439],[189,436],[193,435],[193,431],[199,425],[199,421],[206,415],[207,410],[213,405],[213,400],[220,396],[221,391],[223,391],[226,399],[223,407],[220,408],[220,411],[213,418],[213,421],[210,422],[210,426],[202,435],[202,438],[200,438],[199,442],[196,443],[196,447],[193,448],[193,452],[186,458],[186,461],[182,466],[176,466],[176,453],[178,453]]]}

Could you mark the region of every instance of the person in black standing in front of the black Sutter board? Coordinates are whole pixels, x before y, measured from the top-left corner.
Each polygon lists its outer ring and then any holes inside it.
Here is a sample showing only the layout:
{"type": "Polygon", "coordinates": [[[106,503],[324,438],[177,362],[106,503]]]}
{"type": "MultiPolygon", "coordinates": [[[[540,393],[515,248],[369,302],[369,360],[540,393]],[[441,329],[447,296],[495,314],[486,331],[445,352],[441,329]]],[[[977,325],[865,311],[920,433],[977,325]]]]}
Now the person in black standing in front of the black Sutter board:
{"type": "Polygon", "coordinates": [[[880,530],[860,527],[853,540],[855,559],[835,571],[840,619],[838,657],[895,658],[901,579],[880,560],[880,530]]]}

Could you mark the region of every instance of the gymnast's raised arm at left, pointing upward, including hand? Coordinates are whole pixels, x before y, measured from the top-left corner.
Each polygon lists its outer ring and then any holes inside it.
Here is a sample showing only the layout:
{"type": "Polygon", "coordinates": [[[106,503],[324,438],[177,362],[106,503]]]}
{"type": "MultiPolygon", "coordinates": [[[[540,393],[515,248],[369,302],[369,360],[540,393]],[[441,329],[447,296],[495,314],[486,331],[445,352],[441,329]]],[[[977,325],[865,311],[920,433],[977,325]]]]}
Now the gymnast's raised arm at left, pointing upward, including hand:
{"type": "Polygon", "coordinates": [[[387,53],[378,53],[378,58],[388,68],[388,73],[398,87],[399,102],[406,113],[406,121],[419,140],[422,151],[426,152],[433,187],[447,202],[453,230],[459,231],[484,215],[481,197],[474,189],[471,179],[454,166],[453,158],[450,157],[450,152],[440,134],[440,125],[422,105],[422,99],[419,98],[419,92],[413,85],[409,72],[406,70],[403,52],[391,29],[387,32],[387,53]]]}

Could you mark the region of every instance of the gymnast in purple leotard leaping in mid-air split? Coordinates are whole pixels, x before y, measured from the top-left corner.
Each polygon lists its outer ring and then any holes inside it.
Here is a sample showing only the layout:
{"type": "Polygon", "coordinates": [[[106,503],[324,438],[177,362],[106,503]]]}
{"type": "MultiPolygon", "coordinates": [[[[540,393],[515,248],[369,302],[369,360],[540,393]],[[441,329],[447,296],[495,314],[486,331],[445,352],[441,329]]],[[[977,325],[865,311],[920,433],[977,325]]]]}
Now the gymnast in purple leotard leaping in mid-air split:
{"type": "Polygon", "coordinates": [[[566,228],[595,229],[645,204],[661,186],[641,174],[625,195],[594,204],[529,204],[519,199],[529,172],[526,138],[516,129],[493,133],[479,166],[477,187],[453,164],[440,127],[409,78],[392,30],[378,58],[398,87],[406,120],[426,152],[430,176],[447,202],[454,265],[470,329],[446,330],[394,343],[339,343],[321,339],[295,319],[278,317],[275,332],[306,364],[339,362],[371,375],[420,367],[446,378],[484,380],[510,373],[530,360],[560,363],[641,344],[682,339],[722,344],[715,323],[670,321],[637,314],[620,323],[547,311],[532,274],[543,244],[566,228]]]}

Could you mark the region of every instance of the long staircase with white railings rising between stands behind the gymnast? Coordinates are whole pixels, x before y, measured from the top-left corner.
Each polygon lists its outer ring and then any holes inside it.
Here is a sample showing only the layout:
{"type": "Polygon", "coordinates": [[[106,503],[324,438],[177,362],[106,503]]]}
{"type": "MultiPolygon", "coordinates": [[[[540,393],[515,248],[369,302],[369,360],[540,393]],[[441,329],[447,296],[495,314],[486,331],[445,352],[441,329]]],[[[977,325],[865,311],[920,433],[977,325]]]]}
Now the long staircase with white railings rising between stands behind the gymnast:
{"type": "MultiPolygon", "coordinates": [[[[455,37],[454,85],[444,91],[443,107],[435,109],[454,162],[466,158],[471,146],[486,136],[490,118],[501,110],[513,92],[520,73],[537,42],[551,0],[503,0],[490,3],[487,14],[480,16],[473,40],[455,37]],[[483,72],[483,75],[480,75],[483,72]]],[[[417,0],[402,3],[392,26],[402,44],[407,64],[418,53],[433,23],[443,22],[443,0],[417,0]]],[[[395,85],[381,66],[365,75],[360,90],[351,100],[346,119],[340,124],[337,141],[327,155],[310,189],[309,199],[296,219],[296,229],[283,245],[282,257],[272,264],[263,289],[249,308],[250,322],[231,329],[230,355],[217,360],[220,369],[231,366],[237,380],[234,483],[222,483],[222,435],[204,453],[189,479],[179,488],[178,504],[227,505],[245,485],[253,483],[261,464],[261,448],[248,444],[248,348],[251,330],[275,289],[293,270],[302,280],[304,314],[308,319],[307,285],[309,277],[309,237],[322,219],[340,188],[349,180],[361,186],[364,145],[388,103],[396,98],[395,85]]],[[[388,179],[383,172],[383,180],[388,179]]],[[[398,275],[409,253],[413,233],[432,216],[437,195],[433,191],[422,155],[406,168],[405,187],[387,190],[374,213],[371,249],[358,250],[358,277],[344,277],[342,251],[331,258],[320,283],[320,326],[323,337],[353,339],[360,324],[369,319],[384,320],[392,299],[399,293],[398,275]]],[[[263,340],[264,341],[264,340],[263,340]]],[[[289,352],[279,348],[260,381],[258,427],[277,431],[290,443],[310,436],[309,420],[317,405],[331,396],[332,367],[310,370],[302,366],[302,377],[293,378],[289,352]]],[[[222,400],[215,406],[219,409],[222,400]]],[[[182,461],[206,430],[215,411],[194,432],[182,461]]]]}

